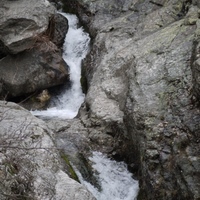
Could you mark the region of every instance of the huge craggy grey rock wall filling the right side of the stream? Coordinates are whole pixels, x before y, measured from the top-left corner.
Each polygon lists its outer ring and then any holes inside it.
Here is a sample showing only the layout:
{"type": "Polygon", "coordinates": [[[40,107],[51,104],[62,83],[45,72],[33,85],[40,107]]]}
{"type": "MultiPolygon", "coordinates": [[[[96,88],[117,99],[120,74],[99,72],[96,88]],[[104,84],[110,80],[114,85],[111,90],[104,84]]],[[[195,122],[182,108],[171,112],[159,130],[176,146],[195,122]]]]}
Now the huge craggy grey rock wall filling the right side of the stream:
{"type": "Polygon", "coordinates": [[[140,171],[138,199],[200,199],[199,2],[67,5],[94,37],[85,126],[100,130],[97,141],[123,139],[121,156],[140,171]]]}

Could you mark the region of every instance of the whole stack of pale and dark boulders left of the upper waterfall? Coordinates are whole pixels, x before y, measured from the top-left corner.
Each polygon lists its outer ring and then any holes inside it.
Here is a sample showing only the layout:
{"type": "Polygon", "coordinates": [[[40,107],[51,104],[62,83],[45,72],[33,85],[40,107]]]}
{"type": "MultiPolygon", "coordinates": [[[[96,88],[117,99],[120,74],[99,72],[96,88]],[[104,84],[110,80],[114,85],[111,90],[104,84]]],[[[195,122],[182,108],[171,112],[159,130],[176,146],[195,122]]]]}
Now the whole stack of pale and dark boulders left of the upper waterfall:
{"type": "Polygon", "coordinates": [[[68,21],[47,0],[0,2],[0,98],[69,82],[61,46],[68,21]]]}

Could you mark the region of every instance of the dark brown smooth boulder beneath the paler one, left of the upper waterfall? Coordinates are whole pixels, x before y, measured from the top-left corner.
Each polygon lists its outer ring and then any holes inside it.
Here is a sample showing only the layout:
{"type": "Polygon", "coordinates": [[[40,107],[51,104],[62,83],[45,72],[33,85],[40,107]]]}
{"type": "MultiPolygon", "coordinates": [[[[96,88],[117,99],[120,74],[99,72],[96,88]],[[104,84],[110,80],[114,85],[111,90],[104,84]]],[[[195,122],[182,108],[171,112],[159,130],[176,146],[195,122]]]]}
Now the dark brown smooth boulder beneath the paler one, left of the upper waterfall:
{"type": "Polygon", "coordinates": [[[69,81],[68,66],[49,41],[2,58],[0,70],[1,98],[27,95],[69,81]]]}

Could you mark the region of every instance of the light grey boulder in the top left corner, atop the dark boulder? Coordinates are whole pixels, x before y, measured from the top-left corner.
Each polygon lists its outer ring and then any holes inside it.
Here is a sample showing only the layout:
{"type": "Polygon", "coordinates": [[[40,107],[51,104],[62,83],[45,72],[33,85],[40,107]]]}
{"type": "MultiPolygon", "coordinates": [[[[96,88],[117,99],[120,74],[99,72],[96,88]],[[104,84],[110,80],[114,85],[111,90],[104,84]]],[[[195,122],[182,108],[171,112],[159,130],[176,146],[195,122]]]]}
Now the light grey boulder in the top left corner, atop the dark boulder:
{"type": "Polygon", "coordinates": [[[55,8],[47,0],[0,2],[0,50],[12,54],[32,48],[45,32],[55,8]]]}

